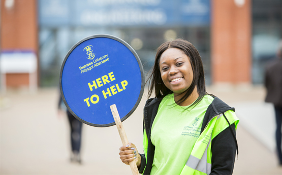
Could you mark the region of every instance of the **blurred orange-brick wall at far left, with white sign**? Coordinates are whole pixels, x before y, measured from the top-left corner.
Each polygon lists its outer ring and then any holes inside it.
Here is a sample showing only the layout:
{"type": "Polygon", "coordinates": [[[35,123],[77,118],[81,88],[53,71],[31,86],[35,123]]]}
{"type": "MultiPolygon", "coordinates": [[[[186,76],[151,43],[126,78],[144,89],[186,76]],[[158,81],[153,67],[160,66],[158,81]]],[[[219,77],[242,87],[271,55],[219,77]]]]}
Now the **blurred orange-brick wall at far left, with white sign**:
{"type": "Polygon", "coordinates": [[[1,0],[1,91],[27,87],[36,91],[39,80],[37,1],[1,0]]]}

